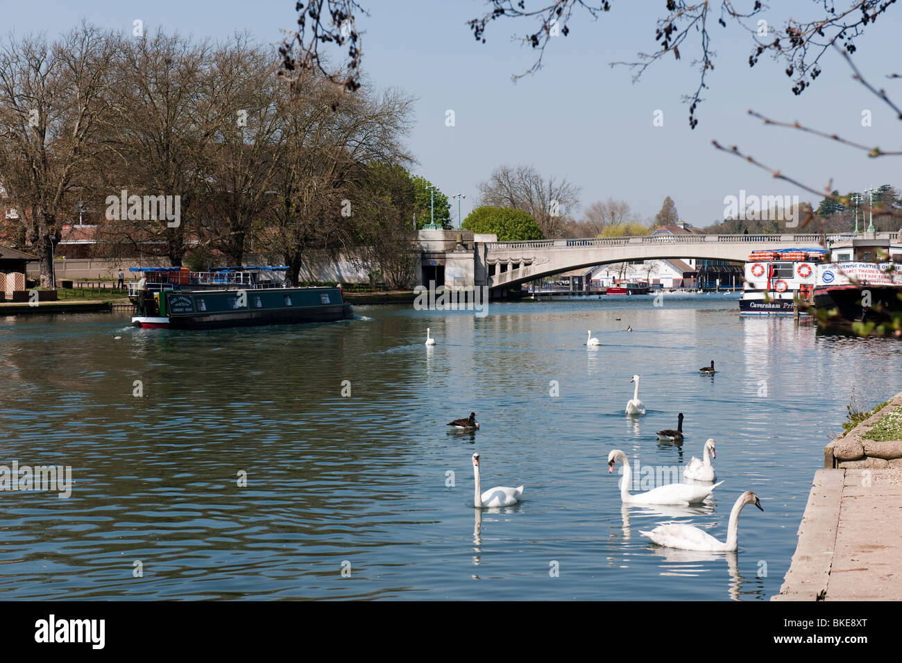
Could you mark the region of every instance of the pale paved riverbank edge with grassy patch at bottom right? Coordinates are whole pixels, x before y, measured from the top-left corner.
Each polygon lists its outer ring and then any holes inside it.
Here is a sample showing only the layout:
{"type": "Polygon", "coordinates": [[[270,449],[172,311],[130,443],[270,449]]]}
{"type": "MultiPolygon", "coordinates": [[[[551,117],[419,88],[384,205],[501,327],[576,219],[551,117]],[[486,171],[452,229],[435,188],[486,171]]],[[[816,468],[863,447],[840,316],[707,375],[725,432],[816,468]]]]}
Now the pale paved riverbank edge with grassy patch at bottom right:
{"type": "Polygon", "coordinates": [[[902,393],[824,449],[773,601],[902,601],[902,393]],[[876,437],[877,439],[872,439],[876,437]]]}

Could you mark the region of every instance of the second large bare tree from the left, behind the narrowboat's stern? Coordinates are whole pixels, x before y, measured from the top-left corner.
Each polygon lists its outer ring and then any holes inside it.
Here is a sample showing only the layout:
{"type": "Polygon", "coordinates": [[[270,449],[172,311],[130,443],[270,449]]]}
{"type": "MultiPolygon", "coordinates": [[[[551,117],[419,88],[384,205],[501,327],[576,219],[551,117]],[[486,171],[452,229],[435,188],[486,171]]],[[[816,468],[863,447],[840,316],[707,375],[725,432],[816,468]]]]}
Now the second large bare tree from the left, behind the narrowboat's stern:
{"type": "MultiPolygon", "coordinates": [[[[179,200],[179,219],[143,213],[107,220],[108,244],[161,246],[170,264],[180,266],[189,243],[198,241],[206,152],[222,140],[224,124],[234,122],[221,98],[204,94],[213,76],[212,48],[178,34],[157,32],[139,39],[123,38],[115,61],[112,105],[115,124],[106,137],[106,162],[98,171],[97,196],[171,197],[179,200]],[[219,133],[217,133],[219,132],[219,133]]],[[[107,207],[109,211],[109,207],[107,207]]]]}

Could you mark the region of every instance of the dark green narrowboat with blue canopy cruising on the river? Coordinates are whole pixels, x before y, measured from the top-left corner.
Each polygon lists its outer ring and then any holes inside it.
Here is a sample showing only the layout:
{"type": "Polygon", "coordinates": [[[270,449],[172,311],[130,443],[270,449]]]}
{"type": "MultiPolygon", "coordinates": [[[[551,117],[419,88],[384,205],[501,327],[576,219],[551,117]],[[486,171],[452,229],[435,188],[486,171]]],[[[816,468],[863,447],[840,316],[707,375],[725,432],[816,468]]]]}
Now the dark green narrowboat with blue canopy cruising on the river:
{"type": "Polygon", "coordinates": [[[185,268],[131,268],[143,272],[129,283],[132,324],[144,328],[211,329],[331,322],[353,317],[340,286],[292,288],[287,267],[226,267],[210,272],[185,268]]]}

